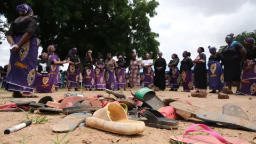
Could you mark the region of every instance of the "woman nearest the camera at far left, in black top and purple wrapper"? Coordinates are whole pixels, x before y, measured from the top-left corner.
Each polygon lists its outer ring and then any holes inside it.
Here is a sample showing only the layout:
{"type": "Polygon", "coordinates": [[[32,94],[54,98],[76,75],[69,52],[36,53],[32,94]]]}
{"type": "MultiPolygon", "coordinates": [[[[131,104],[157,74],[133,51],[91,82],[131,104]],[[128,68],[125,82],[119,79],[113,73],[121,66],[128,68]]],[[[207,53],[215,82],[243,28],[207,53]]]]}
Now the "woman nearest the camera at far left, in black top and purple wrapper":
{"type": "Polygon", "coordinates": [[[14,98],[36,97],[33,92],[36,76],[36,61],[39,46],[39,29],[34,12],[27,4],[16,7],[20,15],[11,23],[6,33],[7,41],[13,46],[6,75],[5,90],[13,91],[14,98]],[[21,92],[23,92],[21,94],[21,92]]]}

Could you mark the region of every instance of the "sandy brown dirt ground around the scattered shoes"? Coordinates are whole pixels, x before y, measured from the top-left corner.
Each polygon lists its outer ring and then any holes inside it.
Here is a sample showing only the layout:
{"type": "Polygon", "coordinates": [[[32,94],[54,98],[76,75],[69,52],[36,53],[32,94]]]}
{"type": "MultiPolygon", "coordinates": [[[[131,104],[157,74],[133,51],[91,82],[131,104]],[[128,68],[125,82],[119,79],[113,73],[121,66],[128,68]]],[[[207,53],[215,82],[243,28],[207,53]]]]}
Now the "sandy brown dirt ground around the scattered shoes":
{"type": "MultiPolygon", "coordinates": [[[[52,94],[37,94],[39,97],[44,97],[46,95],[51,95],[54,99],[57,99],[67,90],[62,89],[56,93],[52,94]]],[[[74,92],[75,93],[75,92],[74,92]]],[[[87,97],[93,97],[95,94],[105,93],[102,91],[80,91],[77,93],[82,93],[87,97]]],[[[130,91],[124,91],[126,96],[131,95],[130,91]]],[[[208,94],[207,98],[193,98],[188,97],[190,93],[187,92],[156,92],[160,99],[166,98],[182,98],[190,101],[193,105],[201,107],[205,110],[214,111],[218,113],[222,113],[222,105],[227,103],[235,103],[245,111],[245,113],[249,116],[251,121],[256,121],[256,105],[255,100],[256,97],[251,97],[250,100],[248,96],[243,95],[230,95],[230,99],[218,99],[217,94],[208,94]]],[[[3,104],[7,99],[12,99],[11,93],[0,90],[0,103],[3,104]]],[[[38,101],[39,98],[25,98],[21,99],[23,101],[35,100],[38,101]]],[[[25,120],[25,115],[22,112],[0,112],[0,143],[12,144],[19,143],[18,141],[22,140],[22,137],[28,137],[24,143],[52,143],[50,140],[57,140],[56,134],[53,133],[52,126],[60,121],[65,115],[46,115],[48,121],[40,124],[31,124],[28,127],[25,127],[22,130],[17,132],[13,132],[9,135],[4,135],[4,130],[15,125],[20,124],[23,120],[25,120]],[[31,137],[29,137],[31,136],[31,137]]],[[[30,117],[37,117],[36,114],[30,114],[30,117]]],[[[39,115],[44,116],[44,115],[39,115]]],[[[203,123],[197,119],[191,119],[189,121],[179,121],[179,129],[178,130],[161,130],[155,129],[152,127],[147,127],[145,132],[137,135],[119,135],[113,134],[97,129],[93,129],[90,127],[78,127],[76,130],[71,132],[65,140],[71,138],[69,143],[170,143],[170,137],[173,135],[182,135],[188,126],[194,123],[203,123]]],[[[221,127],[220,125],[211,125],[212,129],[217,131],[223,136],[226,137],[237,137],[247,141],[252,142],[253,138],[256,136],[254,132],[248,132],[244,130],[234,130],[228,129],[227,127],[221,127]]],[[[59,139],[61,139],[65,134],[58,134],[59,139]]]]}

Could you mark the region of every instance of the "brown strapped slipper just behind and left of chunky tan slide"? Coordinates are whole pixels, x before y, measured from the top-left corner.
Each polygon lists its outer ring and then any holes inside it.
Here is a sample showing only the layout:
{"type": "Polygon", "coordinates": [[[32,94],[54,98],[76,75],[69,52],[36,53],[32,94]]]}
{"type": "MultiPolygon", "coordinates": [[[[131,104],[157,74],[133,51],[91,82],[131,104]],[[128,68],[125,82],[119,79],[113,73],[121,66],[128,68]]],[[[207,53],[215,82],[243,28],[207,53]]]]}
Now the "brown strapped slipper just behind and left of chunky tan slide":
{"type": "Polygon", "coordinates": [[[91,105],[89,101],[77,101],[71,107],[63,108],[64,114],[73,114],[73,113],[81,113],[83,111],[87,111],[87,113],[94,113],[94,111],[100,109],[101,107],[94,107],[91,105]]]}

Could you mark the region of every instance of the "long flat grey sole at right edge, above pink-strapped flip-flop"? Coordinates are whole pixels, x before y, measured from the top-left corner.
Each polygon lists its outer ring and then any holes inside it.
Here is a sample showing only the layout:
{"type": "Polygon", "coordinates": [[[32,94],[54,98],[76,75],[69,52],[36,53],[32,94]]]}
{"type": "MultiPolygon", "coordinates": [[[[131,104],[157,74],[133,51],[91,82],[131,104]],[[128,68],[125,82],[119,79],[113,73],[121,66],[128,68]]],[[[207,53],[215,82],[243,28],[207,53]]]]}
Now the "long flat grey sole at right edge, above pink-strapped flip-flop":
{"type": "Polygon", "coordinates": [[[256,122],[247,121],[245,119],[234,117],[234,116],[228,116],[228,115],[207,111],[207,112],[196,113],[196,118],[201,119],[202,121],[205,121],[205,122],[231,125],[231,126],[239,127],[244,130],[256,132],[256,122]]]}

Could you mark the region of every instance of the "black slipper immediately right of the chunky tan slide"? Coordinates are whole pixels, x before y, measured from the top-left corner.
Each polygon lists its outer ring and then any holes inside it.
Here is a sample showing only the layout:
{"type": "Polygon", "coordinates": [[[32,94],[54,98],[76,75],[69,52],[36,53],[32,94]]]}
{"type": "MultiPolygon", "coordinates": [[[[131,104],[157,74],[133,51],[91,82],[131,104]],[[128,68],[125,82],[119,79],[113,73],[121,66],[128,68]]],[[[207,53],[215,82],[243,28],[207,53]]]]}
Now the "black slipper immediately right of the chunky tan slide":
{"type": "Polygon", "coordinates": [[[147,120],[141,119],[142,122],[145,122],[146,126],[158,129],[178,129],[179,127],[177,120],[165,118],[164,115],[155,109],[139,108],[138,111],[143,117],[147,118],[147,120]]]}

